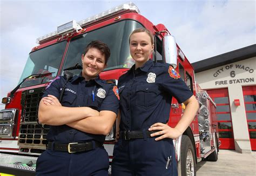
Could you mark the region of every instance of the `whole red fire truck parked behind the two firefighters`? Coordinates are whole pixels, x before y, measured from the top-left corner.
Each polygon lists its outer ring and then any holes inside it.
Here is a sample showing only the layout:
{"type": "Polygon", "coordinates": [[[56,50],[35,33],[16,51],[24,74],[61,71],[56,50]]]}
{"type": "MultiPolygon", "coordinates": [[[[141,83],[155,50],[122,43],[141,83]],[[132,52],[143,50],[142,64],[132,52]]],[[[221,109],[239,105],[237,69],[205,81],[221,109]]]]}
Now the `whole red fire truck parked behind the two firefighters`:
{"type": "MultiPolygon", "coordinates": [[[[179,175],[196,175],[196,164],[202,159],[217,161],[220,142],[215,103],[196,83],[192,65],[168,29],[163,24],[152,24],[139,14],[136,5],[127,3],[78,23],[60,25],[57,31],[37,39],[38,46],[29,53],[18,86],[2,99],[5,109],[0,111],[0,173],[35,174],[35,163],[45,150],[49,129],[49,125],[38,124],[38,104],[51,80],[63,75],[64,69],[80,63],[83,49],[91,40],[102,40],[111,49],[107,68],[100,78],[118,80],[133,65],[129,35],[141,27],[154,34],[153,61],[173,65],[200,105],[191,125],[174,140],[179,175]]],[[[71,72],[78,75],[80,70],[71,72]]],[[[168,125],[174,127],[185,108],[173,98],[168,125]]],[[[113,126],[104,144],[110,169],[115,130],[113,126]]]]}

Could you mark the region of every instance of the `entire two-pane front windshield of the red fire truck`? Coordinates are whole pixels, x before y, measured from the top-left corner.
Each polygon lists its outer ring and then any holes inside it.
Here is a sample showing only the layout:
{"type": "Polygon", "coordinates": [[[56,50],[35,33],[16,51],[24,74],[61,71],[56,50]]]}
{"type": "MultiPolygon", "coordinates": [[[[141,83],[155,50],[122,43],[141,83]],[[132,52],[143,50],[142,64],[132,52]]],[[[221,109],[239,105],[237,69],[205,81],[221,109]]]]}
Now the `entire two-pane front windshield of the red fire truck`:
{"type": "MultiPolygon", "coordinates": [[[[111,56],[107,62],[105,71],[122,68],[130,69],[134,62],[129,51],[129,36],[130,33],[137,28],[142,28],[142,25],[129,19],[72,38],[66,53],[63,69],[75,66],[77,63],[82,64],[82,53],[87,44],[92,40],[101,40],[110,48],[111,56]]],[[[43,84],[54,79],[57,76],[66,44],[67,41],[63,40],[63,42],[31,52],[19,83],[21,83],[24,78],[33,74],[54,73],[45,77],[27,78],[20,87],[43,84]]],[[[81,70],[71,70],[71,72],[74,75],[79,75],[81,70]]]]}

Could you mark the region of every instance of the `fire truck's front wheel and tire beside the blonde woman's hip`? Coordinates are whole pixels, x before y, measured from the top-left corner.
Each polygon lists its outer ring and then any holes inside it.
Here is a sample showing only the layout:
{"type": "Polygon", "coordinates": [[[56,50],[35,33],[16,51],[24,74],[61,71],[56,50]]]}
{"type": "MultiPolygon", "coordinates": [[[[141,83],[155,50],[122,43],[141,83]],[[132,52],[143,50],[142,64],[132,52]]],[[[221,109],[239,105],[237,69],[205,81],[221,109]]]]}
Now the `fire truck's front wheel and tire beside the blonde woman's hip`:
{"type": "Polygon", "coordinates": [[[196,176],[196,156],[188,136],[183,135],[180,151],[181,176],[196,176]]]}

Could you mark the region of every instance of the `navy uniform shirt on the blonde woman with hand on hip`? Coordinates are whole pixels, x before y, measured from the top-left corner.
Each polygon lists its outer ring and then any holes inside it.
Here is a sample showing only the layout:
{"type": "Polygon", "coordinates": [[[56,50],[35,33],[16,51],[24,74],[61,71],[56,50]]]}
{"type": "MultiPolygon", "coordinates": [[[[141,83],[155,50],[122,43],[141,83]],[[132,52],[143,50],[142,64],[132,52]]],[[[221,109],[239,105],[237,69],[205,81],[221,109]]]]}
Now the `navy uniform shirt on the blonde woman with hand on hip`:
{"type": "Polygon", "coordinates": [[[172,97],[183,103],[193,95],[169,64],[148,60],[137,70],[134,66],[118,80],[120,131],[147,130],[158,122],[166,124],[172,97]]]}

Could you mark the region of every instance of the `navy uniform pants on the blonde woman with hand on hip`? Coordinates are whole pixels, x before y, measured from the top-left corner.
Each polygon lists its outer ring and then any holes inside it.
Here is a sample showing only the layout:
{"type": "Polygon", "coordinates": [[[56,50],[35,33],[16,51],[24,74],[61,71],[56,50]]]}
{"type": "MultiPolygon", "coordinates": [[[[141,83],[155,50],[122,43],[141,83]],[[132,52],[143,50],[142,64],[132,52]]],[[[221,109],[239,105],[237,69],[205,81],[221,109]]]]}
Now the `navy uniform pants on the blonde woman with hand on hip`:
{"type": "Polygon", "coordinates": [[[119,139],[114,146],[112,175],[178,175],[172,139],[154,139],[119,139]]]}

